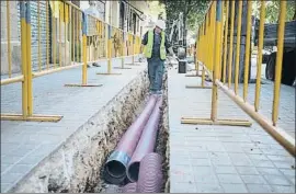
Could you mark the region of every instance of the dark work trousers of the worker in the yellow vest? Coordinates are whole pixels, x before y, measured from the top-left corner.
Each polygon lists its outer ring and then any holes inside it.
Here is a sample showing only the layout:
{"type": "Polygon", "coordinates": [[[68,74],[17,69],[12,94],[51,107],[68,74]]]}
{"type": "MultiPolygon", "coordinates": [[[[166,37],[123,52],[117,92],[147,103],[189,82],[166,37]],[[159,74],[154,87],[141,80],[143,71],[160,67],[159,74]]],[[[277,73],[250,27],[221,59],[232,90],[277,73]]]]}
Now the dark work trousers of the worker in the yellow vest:
{"type": "Polygon", "coordinates": [[[151,93],[161,93],[163,72],[163,60],[161,60],[159,57],[148,59],[148,77],[151,93]]]}

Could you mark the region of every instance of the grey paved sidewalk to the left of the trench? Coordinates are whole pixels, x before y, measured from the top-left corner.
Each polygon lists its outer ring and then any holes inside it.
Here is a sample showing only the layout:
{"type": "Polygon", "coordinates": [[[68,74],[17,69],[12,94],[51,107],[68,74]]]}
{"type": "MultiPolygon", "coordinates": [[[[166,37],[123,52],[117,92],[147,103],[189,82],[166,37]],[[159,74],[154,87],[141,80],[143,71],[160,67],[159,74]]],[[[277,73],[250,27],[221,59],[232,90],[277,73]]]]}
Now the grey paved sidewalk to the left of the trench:
{"type": "MultiPolygon", "coordinates": [[[[114,59],[114,67],[121,59],[114,59]]],[[[126,62],[132,62],[130,58],[126,62]]],[[[31,169],[62,144],[78,127],[99,112],[138,72],[133,69],[113,69],[119,76],[98,76],[106,72],[102,67],[88,70],[89,83],[103,83],[99,88],[65,88],[65,83],[81,83],[81,67],[34,79],[34,113],[56,114],[64,118],[58,123],[4,122],[1,121],[1,192],[8,191],[31,169]]],[[[1,113],[21,113],[21,84],[1,87],[1,113]]]]}

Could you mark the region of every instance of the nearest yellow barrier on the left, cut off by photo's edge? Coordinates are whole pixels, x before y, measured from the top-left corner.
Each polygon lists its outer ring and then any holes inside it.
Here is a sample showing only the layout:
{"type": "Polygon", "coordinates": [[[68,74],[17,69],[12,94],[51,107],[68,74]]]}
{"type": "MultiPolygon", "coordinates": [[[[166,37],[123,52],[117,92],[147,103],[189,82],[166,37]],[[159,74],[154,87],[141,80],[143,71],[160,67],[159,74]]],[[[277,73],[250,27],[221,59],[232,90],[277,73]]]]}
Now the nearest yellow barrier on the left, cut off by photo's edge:
{"type": "MultiPolygon", "coordinates": [[[[9,2],[7,4],[9,12],[9,2]]],[[[38,11],[39,11],[39,3],[38,11]]],[[[35,75],[32,73],[32,21],[31,21],[31,2],[20,1],[20,18],[21,18],[21,61],[22,61],[22,76],[11,78],[11,62],[9,64],[9,79],[1,80],[1,85],[13,82],[22,82],[22,114],[1,114],[1,121],[37,121],[37,122],[58,122],[62,116],[59,115],[35,115],[33,114],[33,78],[35,75]]],[[[8,15],[7,20],[10,20],[8,15]]],[[[10,22],[8,22],[9,24],[10,22]]],[[[39,21],[38,21],[39,24],[39,21]]],[[[8,27],[10,28],[10,27],[8,27]]],[[[38,27],[39,28],[39,27],[38,27]]],[[[10,31],[10,30],[9,30],[10,31]]],[[[38,31],[39,32],[39,31],[38,31]]],[[[39,36],[39,33],[38,33],[39,36]]],[[[10,38],[10,36],[8,36],[10,38]]],[[[10,41],[8,41],[10,48],[10,41]]],[[[39,42],[38,42],[39,45],[39,42]]],[[[41,52],[38,46],[38,59],[41,58],[41,52]]],[[[11,53],[9,49],[9,61],[11,61],[11,53]]],[[[41,71],[41,60],[37,60],[38,70],[41,71]]]]}

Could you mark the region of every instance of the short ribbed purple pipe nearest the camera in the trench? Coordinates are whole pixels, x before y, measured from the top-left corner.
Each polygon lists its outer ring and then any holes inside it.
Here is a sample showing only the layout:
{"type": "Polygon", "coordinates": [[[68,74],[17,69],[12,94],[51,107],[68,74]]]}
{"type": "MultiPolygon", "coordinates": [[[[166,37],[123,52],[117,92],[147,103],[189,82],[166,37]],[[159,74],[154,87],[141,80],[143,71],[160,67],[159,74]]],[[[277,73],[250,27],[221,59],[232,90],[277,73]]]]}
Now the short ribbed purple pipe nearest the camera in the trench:
{"type": "Polygon", "coordinates": [[[158,153],[148,153],[140,161],[138,193],[160,193],[163,183],[162,157],[158,153]]]}

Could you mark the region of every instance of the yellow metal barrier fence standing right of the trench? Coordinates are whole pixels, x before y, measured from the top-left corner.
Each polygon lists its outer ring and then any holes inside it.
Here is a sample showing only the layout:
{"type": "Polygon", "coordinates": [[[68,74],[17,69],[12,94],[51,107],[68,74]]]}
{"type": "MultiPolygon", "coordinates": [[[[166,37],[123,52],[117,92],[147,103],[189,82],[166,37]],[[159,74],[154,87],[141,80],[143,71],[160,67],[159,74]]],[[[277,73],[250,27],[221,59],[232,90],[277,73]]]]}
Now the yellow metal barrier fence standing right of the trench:
{"type": "Polygon", "coordinates": [[[282,76],[282,59],[283,59],[283,41],[285,27],[285,12],[286,1],[281,1],[281,9],[278,15],[278,30],[277,30],[277,57],[275,67],[275,80],[273,92],[273,106],[272,106],[272,121],[267,119],[264,115],[259,113],[260,91],[261,91],[261,64],[262,64],[262,48],[263,48],[263,34],[264,34],[264,18],[265,18],[265,1],[261,1],[260,8],[260,26],[259,26],[259,46],[257,58],[257,83],[255,83],[255,98],[254,105],[247,102],[248,84],[249,84],[249,69],[250,69],[250,46],[251,46],[251,11],[253,1],[247,1],[247,38],[246,38],[246,53],[244,53],[244,71],[243,71],[243,91],[240,96],[239,89],[239,64],[240,64],[240,46],[241,46],[241,20],[242,20],[242,3],[243,1],[212,1],[209,9],[206,13],[205,20],[198,27],[197,36],[197,54],[196,54],[196,71],[198,66],[203,68],[202,87],[187,87],[187,88],[204,88],[205,71],[213,81],[212,87],[212,114],[210,118],[195,118],[182,117],[183,124],[212,124],[212,125],[239,125],[251,126],[248,121],[238,119],[218,119],[217,118],[217,95],[218,88],[223,90],[232,101],[235,101],[247,114],[249,114],[262,128],[264,128],[272,137],[274,137],[283,147],[295,156],[295,139],[289,136],[285,130],[280,128],[276,123],[278,119],[278,103],[280,103],[280,88],[282,76]],[[237,32],[236,32],[236,50],[232,48],[234,44],[234,26],[235,26],[235,7],[238,3],[237,12],[237,32]],[[231,9],[230,9],[231,8],[231,9]],[[223,14],[223,10],[226,14],[223,14]],[[231,10],[231,11],[230,11],[231,10]],[[228,15],[230,15],[230,26],[228,27],[228,15]],[[224,23],[225,22],[225,23],[224,23]],[[228,32],[228,28],[230,30],[228,32]],[[229,48],[228,43],[229,33],[229,48]],[[224,37],[221,36],[224,34],[224,37]],[[229,50],[230,57],[227,61],[227,52],[229,50]],[[235,75],[232,72],[232,55],[235,52],[235,75]],[[228,71],[228,83],[226,83],[226,71],[228,71]],[[234,90],[230,89],[234,82],[234,90]]]}

